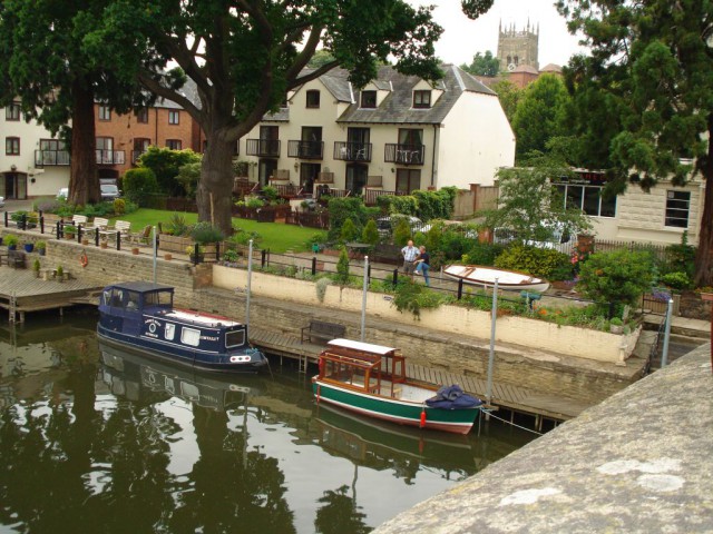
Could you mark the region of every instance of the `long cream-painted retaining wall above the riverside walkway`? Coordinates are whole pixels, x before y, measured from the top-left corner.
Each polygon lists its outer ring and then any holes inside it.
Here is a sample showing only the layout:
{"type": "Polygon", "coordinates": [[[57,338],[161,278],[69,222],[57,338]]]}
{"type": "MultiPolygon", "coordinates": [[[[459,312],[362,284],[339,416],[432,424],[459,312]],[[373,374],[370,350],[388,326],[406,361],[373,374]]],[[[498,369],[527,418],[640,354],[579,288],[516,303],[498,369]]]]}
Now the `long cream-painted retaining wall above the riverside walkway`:
{"type": "MultiPolygon", "coordinates": [[[[225,289],[245,287],[247,271],[223,266],[213,266],[213,285],[225,289]]],[[[253,273],[252,291],[270,298],[289,299],[295,303],[320,305],[314,283],[253,273]],[[285,285],[290,290],[285,291],[285,285]]],[[[362,291],[336,286],[326,288],[323,306],[361,313],[362,291]]],[[[402,314],[391,305],[390,297],[369,293],[367,310],[370,317],[397,323],[412,324],[411,314],[402,314]]],[[[460,306],[440,306],[421,312],[424,325],[438,325],[438,329],[482,339],[490,338],[490,313],[460,306]]],[[[597,362],[623,363],[631,355],[638,338],[638,330],[619,336],[570,326],[558,326],[543,320],[505,316],[497,322],[496,342],[510,343],[541,350],[588,358],[597,362]]]]}

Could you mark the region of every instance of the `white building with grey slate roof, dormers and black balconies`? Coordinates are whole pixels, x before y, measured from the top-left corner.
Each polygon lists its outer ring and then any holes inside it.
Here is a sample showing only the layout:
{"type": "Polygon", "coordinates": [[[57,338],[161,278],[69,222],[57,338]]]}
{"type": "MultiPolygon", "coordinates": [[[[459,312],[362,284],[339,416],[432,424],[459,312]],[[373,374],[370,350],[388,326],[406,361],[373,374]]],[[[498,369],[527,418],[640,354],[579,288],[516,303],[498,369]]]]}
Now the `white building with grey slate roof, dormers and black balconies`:
{"type": "Polygon", "coordinates": [[[497,95],[458,67],[431,85],[390,67],[362,90],[335,69],[290,92],[241,154],[271,178],[361,195],[492,185],[515,160],[515,136],[497,95]]]}

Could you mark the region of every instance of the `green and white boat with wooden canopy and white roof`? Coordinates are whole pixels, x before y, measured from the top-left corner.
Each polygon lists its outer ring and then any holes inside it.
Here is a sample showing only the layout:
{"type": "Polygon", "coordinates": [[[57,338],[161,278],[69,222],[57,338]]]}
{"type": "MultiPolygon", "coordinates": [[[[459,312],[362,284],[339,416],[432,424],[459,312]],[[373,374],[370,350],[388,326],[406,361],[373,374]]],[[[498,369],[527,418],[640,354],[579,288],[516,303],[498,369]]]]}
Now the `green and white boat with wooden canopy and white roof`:
{"type": "Polygon", "coordinates": [[[482,402],[458,386],[441,387],[406,375],[398,348],[332,339],[312,378],[318,403],[401,425],[468,434],[482,402]]]}

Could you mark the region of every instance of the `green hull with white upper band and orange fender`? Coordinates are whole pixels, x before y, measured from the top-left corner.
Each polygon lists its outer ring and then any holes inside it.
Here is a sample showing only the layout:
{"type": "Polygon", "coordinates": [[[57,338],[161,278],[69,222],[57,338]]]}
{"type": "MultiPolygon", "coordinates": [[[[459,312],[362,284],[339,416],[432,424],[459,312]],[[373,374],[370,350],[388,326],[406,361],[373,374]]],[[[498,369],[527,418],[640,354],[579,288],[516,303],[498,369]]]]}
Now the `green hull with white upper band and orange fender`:
{"type": "Polygon", "coordinates": [[[432,408],[421,403],[364,394],[322,382],[318,377],[312,380],[312,392],[318,403],[329,403],[358,414],[400,425],[455,434],[468,434],[480,413],[479,406],[458,409],[432,408]],[[422,413],[426,414],[423,423],[421,422],[422,413]]]}

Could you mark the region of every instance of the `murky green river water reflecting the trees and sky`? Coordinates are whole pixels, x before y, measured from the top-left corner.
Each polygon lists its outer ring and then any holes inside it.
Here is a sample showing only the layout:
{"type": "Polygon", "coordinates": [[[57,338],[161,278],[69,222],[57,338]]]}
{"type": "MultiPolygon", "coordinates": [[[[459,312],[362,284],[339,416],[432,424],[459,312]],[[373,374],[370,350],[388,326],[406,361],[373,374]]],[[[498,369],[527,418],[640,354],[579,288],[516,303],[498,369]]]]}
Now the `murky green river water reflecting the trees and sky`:
{"type": "Polygon", "coordinates": [[[0,532],[364,533],[534,437],[379,425],[279,358],[196,374],[100,346],[96,320],[0,326],[0,532]]]}

